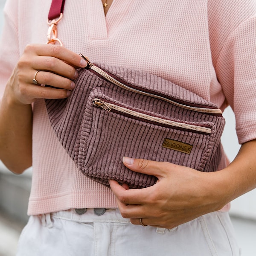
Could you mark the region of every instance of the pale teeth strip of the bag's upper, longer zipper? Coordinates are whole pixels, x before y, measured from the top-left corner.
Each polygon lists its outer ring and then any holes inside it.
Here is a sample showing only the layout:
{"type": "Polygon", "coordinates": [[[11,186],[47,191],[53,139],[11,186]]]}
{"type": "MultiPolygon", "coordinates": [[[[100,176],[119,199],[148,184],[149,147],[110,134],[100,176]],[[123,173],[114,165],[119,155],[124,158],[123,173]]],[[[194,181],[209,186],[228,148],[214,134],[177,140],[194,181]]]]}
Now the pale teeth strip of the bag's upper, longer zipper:
{"type": "Polygon", "coordinates": [[[106,73],[104,70],[102,70],[101,68],[99,68],[99,67],[97,67],[95,65],[92,65],[90,68],[92,70],[94,70],[95,72],[99,73],[99,75],[103,76],[105,79],[107,79],[111,83],[116,84],[117,86],[122,87],[125,90],[129,90],[129,91],[134,92],[134,93],[139,93],[139,94],[142,94],[142,95],[145,95],[145,96],[150,96],[150,97],[153,97],[153,98],[161,99],[161,100],[169,102],[169,103],[171,103],[171,104],[173,104],[173,105],[175,105],[177,107],[185,108],[185,109],[192,110],[192,111],[197,111],[197,112],[202,112],[202,113],[209,113],[209,114],[222,114],[222,111],[220,109],[215,109],[215,108],[199,108],[199,107],[187,106],[187,105],[183,105],[183,104],[177,103],[177,102],[175,102],[175,101],[173,101],[171,99],[167,99],[167,98],[159,96],[159,95],[155,95],[155,94],[152,94],[152,93],[147,93],[147,92],[143,92],[141,90],[137,90],[137,89],[131,88],[131,87],[129,87],[129,86],[127,86],[125,84],[122,84],[121,82],[117,81],[112,76],[110,76],[108,73],[106,73]]]}

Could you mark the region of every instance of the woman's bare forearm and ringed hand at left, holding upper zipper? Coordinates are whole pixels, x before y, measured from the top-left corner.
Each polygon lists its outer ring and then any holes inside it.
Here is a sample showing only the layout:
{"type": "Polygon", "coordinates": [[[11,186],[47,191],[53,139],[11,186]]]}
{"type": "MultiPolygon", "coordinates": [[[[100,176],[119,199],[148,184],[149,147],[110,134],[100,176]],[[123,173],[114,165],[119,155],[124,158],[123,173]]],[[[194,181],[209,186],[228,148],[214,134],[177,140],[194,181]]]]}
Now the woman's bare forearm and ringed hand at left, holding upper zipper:
{"type": "Polygon", "coordinates": [[[86,66],[81,56],[58,45],[30,44],[25,48],[0,102],[0,159],[12,172],[22,173],[32,164],[31,103],[67,98],[75,85],[76,68],[86,66]],[[38,70],[38,84],[34,84],[38,70]]]}

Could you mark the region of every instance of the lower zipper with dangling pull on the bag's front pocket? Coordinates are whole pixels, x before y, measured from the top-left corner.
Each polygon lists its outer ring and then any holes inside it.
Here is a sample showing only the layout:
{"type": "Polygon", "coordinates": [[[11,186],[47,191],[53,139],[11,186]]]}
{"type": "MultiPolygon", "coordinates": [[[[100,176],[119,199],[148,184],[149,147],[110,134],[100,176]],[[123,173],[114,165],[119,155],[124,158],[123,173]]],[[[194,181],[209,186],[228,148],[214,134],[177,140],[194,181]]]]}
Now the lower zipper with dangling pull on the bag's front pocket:
{"type": "Polygon", "coordinates": [[[108,112],[110,112],[111,110],[117,111],[119,113],[122,113],[128,116],[147,120],[149,122],[154,122],[161,125],[167,125],[167,126],[171,126],[179,129],[189,130],[189,131],[197,131],[205,134],[211,134],[212,132],[212,129],[209,128],[209,126],[207,127],[207,125],[192,125],[184,122],[178,122],[178,121],[173,121],[173,120],[169,120],[169,119],[165,119],[165,118],[161,118],[153,115],[148,115],[148,114],[141,113],[139,111],[134,111],[130,108],[125,108],[120,105],[114,104],[112,102],[107,102],[106,100],[102,100],[98,98],[93,99],[93,105],[96,107],[100,107],[108,112]]]}

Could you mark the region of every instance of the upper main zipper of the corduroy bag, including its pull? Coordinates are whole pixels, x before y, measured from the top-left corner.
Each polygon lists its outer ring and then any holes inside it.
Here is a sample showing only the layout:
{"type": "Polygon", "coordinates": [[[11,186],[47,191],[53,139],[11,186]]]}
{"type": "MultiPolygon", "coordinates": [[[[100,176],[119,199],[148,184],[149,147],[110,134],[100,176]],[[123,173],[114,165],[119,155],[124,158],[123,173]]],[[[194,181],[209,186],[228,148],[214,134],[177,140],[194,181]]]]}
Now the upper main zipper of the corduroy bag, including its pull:
{"type": "Polygon", "coordinates": [[[184,109],[191,110],[191,111],[207,113],[207,114],[213,114],[213,115],[214,114],[222,114],[221,109],[218,109],[218,108],[202,108],[202,107],[192,106],[192,105],[189,106],[189,105],[185,105],[185,104],[176,102],[173,99],[169,99],[169,98],[163,97],[161,95],[157,95],[157,94],[153,94],[153,93],[149,93],[149,92],[146,92],[146,91],[135,89],[135,88],[133,88],[131,86],[128,86],[127,84],[124,84],[124,83],[118,81],[114,75],[105,72],[100,67],[98,67],[95,64],[91,63],[86,57],[84,57],[83,55],[81,55],[81,56],[82,56],[82,58],[84,58],[85,61],[87,61],[87,68],[88,69],[91,69],[91,70],[95,71],[97,74],[102,76],[104,79],[108,80],[112,84],[115,84],[116,86],[121,87],[121,88],[123,88],[125,90],[131,91],[131,92],[134,92],[134,93],[139,93],[141,95],[153,97],[155,99],[160,99],[160,100],[169,102],[172,105],[175,105],[177,107],[184,108],[184,109]]]}

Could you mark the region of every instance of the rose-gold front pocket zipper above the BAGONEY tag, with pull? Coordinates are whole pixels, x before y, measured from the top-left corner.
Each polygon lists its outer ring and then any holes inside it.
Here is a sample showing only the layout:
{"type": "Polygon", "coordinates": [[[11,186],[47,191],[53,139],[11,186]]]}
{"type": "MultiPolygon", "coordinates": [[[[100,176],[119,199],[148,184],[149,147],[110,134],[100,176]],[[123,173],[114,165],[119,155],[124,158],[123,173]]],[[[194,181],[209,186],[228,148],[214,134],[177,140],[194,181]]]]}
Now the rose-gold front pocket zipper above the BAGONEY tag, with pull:
{"type": "MultiPolygon", "coordinates": [[[[125,113],[125,114],[131,115],[131,116],[135,116],[137,118],[145,119],[145,120],[148,120],[151,122],[157,122],[157,123],[160,123],[163,125],[174,126],[174,127],[181,128],[181,129],[199,131],[199,132],[203,132],[203,133],[207,133],[207,134],[210,134],[212,132],[211,128],[198,126],[198,125],[185,124],[185,123],[176,122],[176,121],[172,121],[172,120],[167,120],[167,119],[163,119],[163,118],[160,118],[157,116],[151,116],[151,115],[140,113],[140,112],[128,109],[128,108],[124,108],[124,107],[118,106],[113,103],[104,102],[101,99],[97,99],[97,98],[93,99],[93,102],[96,102],[96,101],[99,101],[102,104],[106,105],[108,108],[110,108],[109,111],[111,111],[111,109],[113,109],[115,111],[125,113]]],[[[93,103],[93,105],[96,105],[96,104],[93,103]]]]}

